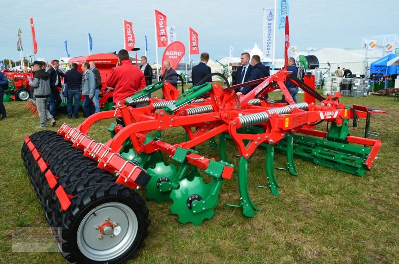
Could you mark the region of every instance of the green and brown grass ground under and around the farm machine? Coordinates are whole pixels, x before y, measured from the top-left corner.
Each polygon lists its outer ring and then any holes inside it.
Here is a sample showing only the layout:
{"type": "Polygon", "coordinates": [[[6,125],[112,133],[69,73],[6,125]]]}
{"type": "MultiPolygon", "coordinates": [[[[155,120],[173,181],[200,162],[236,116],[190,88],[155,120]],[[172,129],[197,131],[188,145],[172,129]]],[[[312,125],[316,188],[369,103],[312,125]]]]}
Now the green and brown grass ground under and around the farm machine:
{"type": "MultiPolygon", "coordinates": [[[[278,98],[280,93],[273,93],[278,98]]],[[[299,101],[303,96],[299,96],[299,101]]],[[[249,167],[249,191],[261,210],[246,218],[241,210],[223,206],[238,204],[236,171],[224,181],[219,205],[211,220],[201,226],[182,225],[169,212],[170,203],[146,201],[150,210],[150,235],[131,264],[395,264],[399,263],[399,102],[393,97],[342,97],[347,105],[362,104],[388,111],[372,119],[371,131],[381,134],[382,148],[372,170],[361,178],[296,160],[298,177],[276,170],[280,197],[256,188],[265,184],[264,151],[257,150],[249,167]]],[[[8,119],[0,121],[0,263],[65,263],[59,253],[17,253],[12,235],[17,227],[47,228],[21,162],[23,137],[36,131],[37,117],[23,102],[5,103],[8,119]]],[[[69,122],[77,126],[83,119],[69,122]]],[[[56,129],[67,122],[60,116],[56,129]]],[[[365,120],[352,135],[364,134],[365,120]]],[[[107,140],[109,123],[95,125],[90,135],[107,140]]],[[[325,125],[319,127],[325,129],[325,125]]],[[[182,131],[182,130],[177,130],[182,131]]],[[[170,131],[164,138],[179,141],[183,133],[170,131]]],[[[167,140],[168,141],[168,140],[167,140]]],[[[237,153],[228,144],[230,160],[237,153]]],[[[217,151],[198,148],[206,157],[219,160],[217,151]]],[[[62,150],[60,150],[62,151],[62,150]]],[[[276,155],[275,167],[285,157],[276,155]]],[[[140,191],[144,195],[144,191],[140,191]]],[[[27,235],[27,242],[29,237],[27,235]]]]}

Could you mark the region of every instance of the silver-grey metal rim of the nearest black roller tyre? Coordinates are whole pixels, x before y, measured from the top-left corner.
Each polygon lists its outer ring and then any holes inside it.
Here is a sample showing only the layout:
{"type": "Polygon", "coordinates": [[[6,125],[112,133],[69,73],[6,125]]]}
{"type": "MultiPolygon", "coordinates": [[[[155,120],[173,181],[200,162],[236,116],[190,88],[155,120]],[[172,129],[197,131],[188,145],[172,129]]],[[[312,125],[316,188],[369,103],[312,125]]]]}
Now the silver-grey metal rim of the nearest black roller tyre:
{"type": "Polygon", "coordinates": [[[121,203],[100,205],[86,214],[80,223],[77,230],[77,246],[90,260],[115,259],[129,250],[133,244],[137,236],[138,224],[136,214],[127,205],[121,203]],[[106,221],[107,218],[109,218],[108,221],[106,221]],[[115,233],[113,238],[110,234],[100,233],[100,230],[109,231],[109,228],[108,230],[98,229],[108,222],[113,224],[111,233],[115,233]]]}

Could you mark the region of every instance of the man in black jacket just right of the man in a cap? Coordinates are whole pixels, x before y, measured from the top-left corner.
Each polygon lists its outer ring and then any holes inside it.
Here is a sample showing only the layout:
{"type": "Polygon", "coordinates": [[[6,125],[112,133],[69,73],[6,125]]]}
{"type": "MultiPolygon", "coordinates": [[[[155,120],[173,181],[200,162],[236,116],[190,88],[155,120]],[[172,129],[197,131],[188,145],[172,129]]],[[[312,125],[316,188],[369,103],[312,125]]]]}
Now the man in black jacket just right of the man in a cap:
{"type": "Polygon", "coordinates": [[[59,61],[54,59],[51,67],[47,69],[48,74],[50,75],[50,88],[51,88],[51,96],[50,96],[50,114],[55,116],[56,109],[61,104],[61,96],[59,94],[59,89],[61,89],[61,78],[64,77],[65,74],[58,70],[59,61]]]}

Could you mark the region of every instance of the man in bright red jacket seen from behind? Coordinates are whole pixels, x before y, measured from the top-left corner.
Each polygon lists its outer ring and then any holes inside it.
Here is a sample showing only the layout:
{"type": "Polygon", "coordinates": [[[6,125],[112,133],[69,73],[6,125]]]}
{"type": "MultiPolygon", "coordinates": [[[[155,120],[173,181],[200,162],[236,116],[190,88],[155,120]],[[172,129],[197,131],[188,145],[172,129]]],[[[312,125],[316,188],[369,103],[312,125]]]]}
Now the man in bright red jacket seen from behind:
{"type": "Polygon", "coordinates": [[[126,49],[118,52],[118,65],[113,68],[107,86],[114,88],[113,102],[118,103],[132,96],[136,91],[146,87],[146,77],[139,67],[133,66],[126,49]]]}

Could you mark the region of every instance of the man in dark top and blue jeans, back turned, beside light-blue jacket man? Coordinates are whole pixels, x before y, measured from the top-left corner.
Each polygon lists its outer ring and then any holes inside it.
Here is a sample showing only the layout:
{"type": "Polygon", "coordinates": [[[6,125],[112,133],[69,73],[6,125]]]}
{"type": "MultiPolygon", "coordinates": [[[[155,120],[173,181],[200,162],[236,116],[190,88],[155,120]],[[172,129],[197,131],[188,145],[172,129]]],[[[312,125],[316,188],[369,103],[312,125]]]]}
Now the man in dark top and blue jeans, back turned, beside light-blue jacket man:
{"type": "Polygon", "coordinates": [[[78,64],[72,63],[71,70],[65,73],[64,83],[67,86],[67,103],[66,111],[68,114],[68,119],[72,118],[72,101],[74,101],[73,116],[79,118],[79,108],[80,108],[80,85],[82,83],[83,74],[78,70],[78,64]]]}

